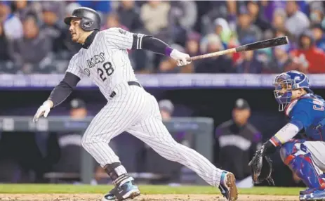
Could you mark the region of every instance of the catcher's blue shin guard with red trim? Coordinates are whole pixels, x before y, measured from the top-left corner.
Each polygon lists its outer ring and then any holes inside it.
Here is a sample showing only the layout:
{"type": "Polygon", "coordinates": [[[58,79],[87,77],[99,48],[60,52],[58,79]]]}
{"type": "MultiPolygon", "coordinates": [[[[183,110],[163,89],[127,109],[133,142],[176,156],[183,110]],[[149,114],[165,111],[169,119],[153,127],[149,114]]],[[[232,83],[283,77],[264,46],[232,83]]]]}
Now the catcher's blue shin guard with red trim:
{"type": "Polygon", "coordinates": [[[319,176],[307,147],[299,141],[285,143],[280,149],[281,159],[284,164],[303,180],[309,188],[324,190],[325,182],[319,176]]]}

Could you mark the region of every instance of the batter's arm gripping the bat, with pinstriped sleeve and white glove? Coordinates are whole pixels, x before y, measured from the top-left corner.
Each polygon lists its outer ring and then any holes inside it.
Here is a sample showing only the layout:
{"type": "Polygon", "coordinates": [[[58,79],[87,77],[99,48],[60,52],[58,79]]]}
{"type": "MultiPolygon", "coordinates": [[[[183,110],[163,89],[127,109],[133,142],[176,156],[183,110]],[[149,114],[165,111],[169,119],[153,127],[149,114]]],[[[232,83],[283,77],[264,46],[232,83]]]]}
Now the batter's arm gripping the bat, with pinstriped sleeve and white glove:
{"type": "Polygon", "coordinates": [[[171,46],[156,37],[132,33],[116,27],[103,32],[105,34],[105,41],[107,41],[111,48],[152,51],[153,53],[170,56],[174,60],[177,60],[178,66],[190,63],[190,61],[187,61],[187,58],[190,58],[188,54],[171,48],[171,46]]]}

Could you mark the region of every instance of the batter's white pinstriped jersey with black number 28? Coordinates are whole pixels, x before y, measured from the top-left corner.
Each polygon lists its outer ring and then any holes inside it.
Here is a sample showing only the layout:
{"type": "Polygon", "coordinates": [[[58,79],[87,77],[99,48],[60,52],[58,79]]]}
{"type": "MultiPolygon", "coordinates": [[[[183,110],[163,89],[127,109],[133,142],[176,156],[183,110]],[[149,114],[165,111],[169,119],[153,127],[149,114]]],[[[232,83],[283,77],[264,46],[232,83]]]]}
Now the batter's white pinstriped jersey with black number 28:
{"type": "MultiPolygon", "coordinates": [[[[108,98],[117,84],[137,81],[127,51],[133,46],[133,35],[120,28],[98,32],[88,49],[81,48],[72,57],[66,72],[71,72],[80,79],[89,77],[108,98]]],[[[135,37],[135,48],[140,48],[143,36],[138,34],[135,37]]]]}

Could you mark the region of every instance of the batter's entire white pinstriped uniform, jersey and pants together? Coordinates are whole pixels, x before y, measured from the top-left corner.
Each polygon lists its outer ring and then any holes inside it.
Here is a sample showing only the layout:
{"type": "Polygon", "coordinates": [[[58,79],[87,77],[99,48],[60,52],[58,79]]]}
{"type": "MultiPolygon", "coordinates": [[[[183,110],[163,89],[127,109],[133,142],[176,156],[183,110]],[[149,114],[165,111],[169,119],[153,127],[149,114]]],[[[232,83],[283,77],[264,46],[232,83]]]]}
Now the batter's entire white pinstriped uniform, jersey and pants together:
{"type": "MultiPolygon", "coordinates": [[[[98,32],[88,49],[81,49],[70,61],[67,72],[80,78],[90,77],[110,99],[89,124],[81,145],[104,168],[107,164],[120,163],[109,143],[127,131],[167,160],[179,162],[211,186],[219,186],[222,170],[195,150],[177,143],[161,121],[156,98],[142,87],[126,84],[137,81],[127,50],[142,48],[143,36],[119,28],[98,32]],[[113,90],[120,96],[111,99],[113,90]]],[[[126,169],[121,167],[118,172],[121,176],[126,174],[126,169]]]]}

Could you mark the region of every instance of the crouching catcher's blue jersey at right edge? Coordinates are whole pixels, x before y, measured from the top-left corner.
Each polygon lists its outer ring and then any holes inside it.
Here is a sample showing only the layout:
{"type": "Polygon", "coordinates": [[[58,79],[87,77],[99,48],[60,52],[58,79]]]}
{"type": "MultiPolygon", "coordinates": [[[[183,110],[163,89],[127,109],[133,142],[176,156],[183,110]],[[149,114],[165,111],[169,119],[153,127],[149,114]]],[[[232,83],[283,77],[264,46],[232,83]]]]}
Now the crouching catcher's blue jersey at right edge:
{"type": "Polygon", "coordinates": [[[310,141],[325,140],[325,100],[321,96],[307,93],[291,101],[285,113],[291,123],[305,129],[310,141]]]}

